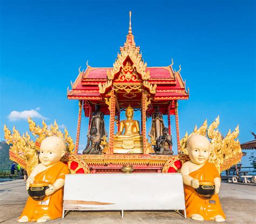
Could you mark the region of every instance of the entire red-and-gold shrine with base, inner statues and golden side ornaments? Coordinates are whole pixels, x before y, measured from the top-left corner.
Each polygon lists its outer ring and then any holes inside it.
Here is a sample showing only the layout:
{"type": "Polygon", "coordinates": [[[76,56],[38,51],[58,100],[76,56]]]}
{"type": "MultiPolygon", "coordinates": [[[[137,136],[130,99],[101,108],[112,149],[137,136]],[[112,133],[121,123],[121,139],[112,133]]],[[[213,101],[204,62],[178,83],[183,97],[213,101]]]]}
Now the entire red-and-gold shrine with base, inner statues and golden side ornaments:
{"type": "MultiPolygon", "coordinates": [[[[78,100],[79,105],[76,144],[68,130],[62,133],[56,122],[48,128],[43,121],[41,128],[29,117],[29,129],[33,136],[38,136],[35,142],[28,133],[21,136],[14,127],[11,134],[4,126],[6,142],[12,144],[9,151],[11,160],[30,173],[38,164],[38,150],[43,139],[59,136],[65,139],[67,146],[67,153],[61,161],[68,165],[71,174],[173,173],[179,172],[181,166],[190,160],[186,150],[188,137],[193,134],[205,136],[207,133],[208,138],[214,139],[209,161],[219,173],[229,169],[242,157],[240,143],[235,140],[239,134],[238,127],[221,138],[217,117],[208,128],[205,121],[180,141],[178,100],[188,99],[189,93],[181,78],[181,69],[176,72],[172,65],[173,62],[165,67],[147,67],[140,48],[134,42],[130,12],[126,42],[120,47],[113,67],[93,68],[87,63],[85,71],[81,72],[79,68],[76,81],[71,82],[72,89],[68,89],[68,99],[78,100]],[[78,144],[83,110],[85,117],[89,118],[89,125],[87,135],[83,135],[87,138],[87,145],[80,155],[78,144]],[[126,119],[123,119],[124,110],[126,119]],[[137,120],[134,111],[138,111],[137,120]],[[163,115],[167,115],[168,127],[165,127],[163,115]],[[171,127],[171,116],[176,121],[178,155],[173,155],[172,151],[171,128],[174,128],[171,127]],[[151,129],[147,133],[146,119],[150,117],[151,129]]],[[[251,148],[254,142],[245,143],[244,147],[251,148]]]]}

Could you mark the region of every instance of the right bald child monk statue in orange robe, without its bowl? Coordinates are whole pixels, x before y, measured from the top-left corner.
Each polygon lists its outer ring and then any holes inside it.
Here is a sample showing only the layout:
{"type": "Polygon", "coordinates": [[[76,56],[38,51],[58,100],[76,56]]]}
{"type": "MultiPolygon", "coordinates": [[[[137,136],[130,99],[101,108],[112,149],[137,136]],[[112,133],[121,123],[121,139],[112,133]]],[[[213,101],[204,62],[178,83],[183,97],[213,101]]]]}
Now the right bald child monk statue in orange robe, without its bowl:
{"type": "Polygon", "coordinates": [[[194,220],[225,221],[225,214],[220,206],[220,176],[216,167],[209,163],[210,142],[205,136],[193,135],[187,140],[187,151],[190,161],[183,164],[183,175],[186,215],[194,220]],[[196,192],[199,181],[215,183],[215,194],[211,199],[203,199],[196,192]]]}

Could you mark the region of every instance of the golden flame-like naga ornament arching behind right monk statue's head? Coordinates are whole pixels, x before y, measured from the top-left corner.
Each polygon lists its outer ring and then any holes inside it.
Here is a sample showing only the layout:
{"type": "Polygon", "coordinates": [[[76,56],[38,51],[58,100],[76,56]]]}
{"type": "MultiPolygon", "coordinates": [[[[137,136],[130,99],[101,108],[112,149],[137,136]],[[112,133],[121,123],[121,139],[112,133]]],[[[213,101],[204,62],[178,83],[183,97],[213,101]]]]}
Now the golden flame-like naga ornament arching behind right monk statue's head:
{"type": "Polygon", "coordinates": [[[190,135],[185,134],[184,138],[180,141],[181,152],[188,155],[187,152],[187,139],[194,135],[204,135],[211,139],[211,155],[208,162],[214,164],[219,173],[229,169],[232,165],[240,162],[242,157],[242,150],[239,140],[235,140],[239,134],[239,126],[233,132],[229,130],[226,137],[221,136],[219,130],[219,116],[207,128],[207,120],[198,129],[195,125],[194,130],[190,135]]]}

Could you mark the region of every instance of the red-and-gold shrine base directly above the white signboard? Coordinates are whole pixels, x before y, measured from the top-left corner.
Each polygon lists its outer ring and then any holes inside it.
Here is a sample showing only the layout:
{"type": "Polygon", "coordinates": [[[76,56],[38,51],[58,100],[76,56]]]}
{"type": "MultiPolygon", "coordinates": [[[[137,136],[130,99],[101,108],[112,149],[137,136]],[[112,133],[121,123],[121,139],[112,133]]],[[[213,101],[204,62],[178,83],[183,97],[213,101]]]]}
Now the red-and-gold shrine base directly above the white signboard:
{"type": "Polygon", "coordinates": [[[132,165],[133,173],[178,172],[187,155],[66,155],[62,162],[70,173],[123,173],[122,167],[132,165]]]}

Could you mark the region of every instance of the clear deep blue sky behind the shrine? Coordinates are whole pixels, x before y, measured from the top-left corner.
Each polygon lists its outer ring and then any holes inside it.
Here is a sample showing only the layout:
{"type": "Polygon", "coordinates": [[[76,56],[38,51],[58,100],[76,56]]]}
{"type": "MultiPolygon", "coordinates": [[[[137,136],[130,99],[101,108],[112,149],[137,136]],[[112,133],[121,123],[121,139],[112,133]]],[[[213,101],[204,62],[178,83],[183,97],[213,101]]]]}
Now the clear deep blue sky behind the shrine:
{"type": "MultiPolygon", "coordinates": [[[[0,4],[0,127],[6,123],[21,132],[28,130],[22,117],[30,111],[37,123],[43,117],[49,124],[56,119],[75,139],[78,102],[67,99],[66,88],[77,78],[78,67],[86,68],[87,60],[92,67],[112,66],[125,42],[131,10],[132,31],[147,65],[167,66],[171,58],[173,68],[181,64],[190,99],[179,101],[180,136],[205,118],[210,124],[219,115],[224,136],[239,124],[240,142],[252,140],[254,1],[10,0],[0,4]]],[[[86,124],[83,118],[81,148],[86,143],[86,124]]],[[[4,139],[2,128],[0,139],[4,139]]]]}

